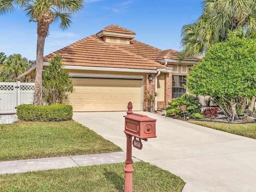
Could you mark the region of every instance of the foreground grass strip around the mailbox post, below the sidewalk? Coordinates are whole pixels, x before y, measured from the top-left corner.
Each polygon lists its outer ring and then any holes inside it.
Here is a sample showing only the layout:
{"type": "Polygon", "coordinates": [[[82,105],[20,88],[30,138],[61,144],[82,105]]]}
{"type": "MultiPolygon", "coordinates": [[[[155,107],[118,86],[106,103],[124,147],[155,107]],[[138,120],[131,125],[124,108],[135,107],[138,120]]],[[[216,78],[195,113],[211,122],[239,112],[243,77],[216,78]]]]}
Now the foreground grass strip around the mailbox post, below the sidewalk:
{"type": "MultiPolygon", "coordinates": [[[[0,175],[0,191],[123,192],[125,163],[0,175]]],[[[133,192],[181,192],[184,181],[146,162],[133,163],[133,192]]]]}

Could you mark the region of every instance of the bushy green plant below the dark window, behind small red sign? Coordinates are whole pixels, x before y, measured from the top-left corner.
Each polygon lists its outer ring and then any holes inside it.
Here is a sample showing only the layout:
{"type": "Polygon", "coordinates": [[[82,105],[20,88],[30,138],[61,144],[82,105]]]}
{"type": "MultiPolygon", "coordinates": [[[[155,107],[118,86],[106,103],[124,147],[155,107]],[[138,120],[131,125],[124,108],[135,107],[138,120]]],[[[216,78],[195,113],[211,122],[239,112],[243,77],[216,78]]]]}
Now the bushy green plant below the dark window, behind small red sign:
{"type": "Polygon", "coordinates": [[[183,94],[179,98],[173,98],[170,102],[168,102],[168,107],[166,108],[166,115],[170,116],[174,114],[178,118],[185,117],[188,118],[204,118],[202,114],[200,114],[202,108],[202,104],[199,99],[195,96],[189,94],[183,94]],[[180,108],[181,106],[185,106],[185,110],[180,108]]]}

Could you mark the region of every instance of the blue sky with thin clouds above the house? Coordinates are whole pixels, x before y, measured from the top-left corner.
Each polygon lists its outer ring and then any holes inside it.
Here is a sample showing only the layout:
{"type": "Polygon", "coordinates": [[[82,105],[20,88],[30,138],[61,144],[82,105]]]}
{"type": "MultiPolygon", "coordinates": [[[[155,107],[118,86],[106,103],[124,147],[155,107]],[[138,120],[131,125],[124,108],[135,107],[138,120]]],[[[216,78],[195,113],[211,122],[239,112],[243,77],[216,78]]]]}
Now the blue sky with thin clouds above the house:
{"type": "MultiPolygon", "coordinates": [[[[50,25],[44,55],[116,24],[136,32],[135,40],[166,50],[182,50],[182,26],[202,13],[202,0],[85,0],[84,10],[74,14],[71,28],[61,31],[50,25]]],[[[0,52],[36,59],[36,23],[25,12],[0,15],[0,52]]]]}

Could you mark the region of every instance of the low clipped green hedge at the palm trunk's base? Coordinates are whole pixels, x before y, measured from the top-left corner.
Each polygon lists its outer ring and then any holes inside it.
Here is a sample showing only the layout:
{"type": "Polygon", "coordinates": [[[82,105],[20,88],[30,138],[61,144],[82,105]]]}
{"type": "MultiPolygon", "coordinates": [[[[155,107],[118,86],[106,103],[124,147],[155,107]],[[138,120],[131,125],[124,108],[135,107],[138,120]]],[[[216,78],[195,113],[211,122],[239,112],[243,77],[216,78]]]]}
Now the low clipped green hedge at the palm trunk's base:
{"type": "Polygon", "coordinates": [[[17,107],[17,116],[25,121],[66,121],[73,116],[72,106],[65,104],[52,104],[34,106],[32,104],[22,104],[17,107]]]}

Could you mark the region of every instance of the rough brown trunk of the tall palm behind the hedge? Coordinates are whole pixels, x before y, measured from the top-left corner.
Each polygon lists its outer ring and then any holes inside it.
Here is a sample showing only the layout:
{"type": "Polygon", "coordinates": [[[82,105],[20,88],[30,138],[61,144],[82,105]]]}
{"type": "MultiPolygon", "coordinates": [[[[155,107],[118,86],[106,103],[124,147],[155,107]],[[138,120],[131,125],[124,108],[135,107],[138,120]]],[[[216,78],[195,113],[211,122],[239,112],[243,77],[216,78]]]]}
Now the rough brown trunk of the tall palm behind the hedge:
{"type": "Polygon", "coordinates": [[[36,45],[36,82],[34,92],[34,105],[42,105],[42,71],[44,63],[44,42],[48,34],[49,25],[53,22],[53,13],[44,14],[42,20],[37,21],[37,45],[36,45]]]}

